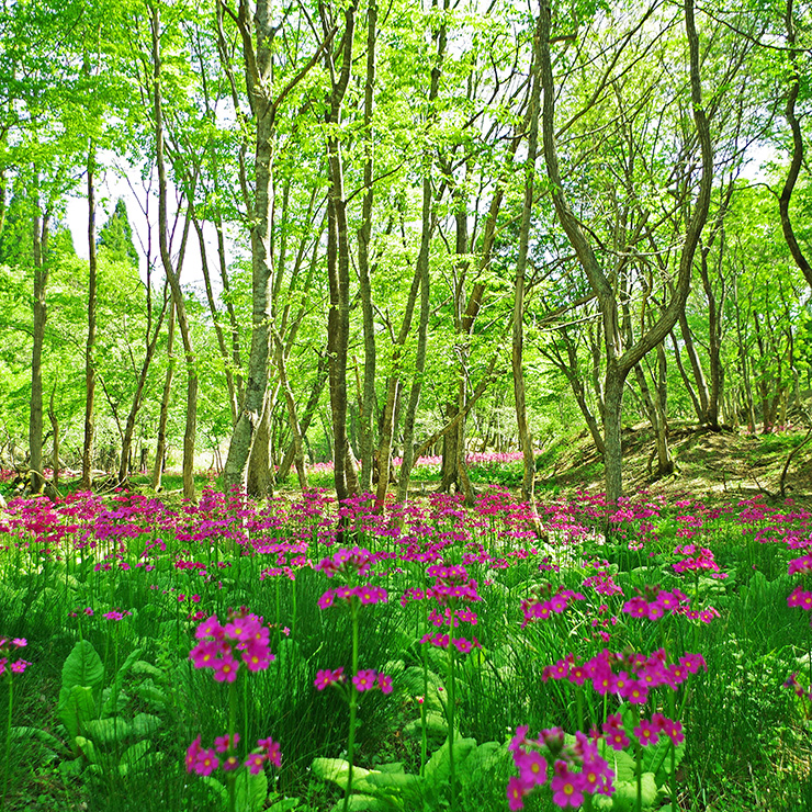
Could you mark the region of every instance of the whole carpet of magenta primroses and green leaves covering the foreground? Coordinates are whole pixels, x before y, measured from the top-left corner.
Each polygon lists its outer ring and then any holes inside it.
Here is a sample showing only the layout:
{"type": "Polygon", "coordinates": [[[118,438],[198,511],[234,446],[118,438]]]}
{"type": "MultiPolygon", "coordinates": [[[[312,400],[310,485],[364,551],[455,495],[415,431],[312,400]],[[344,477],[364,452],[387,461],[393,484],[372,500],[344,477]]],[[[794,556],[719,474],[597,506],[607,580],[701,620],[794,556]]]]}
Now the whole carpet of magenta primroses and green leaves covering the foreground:
{"type": "Polygon", "coordinates": [[[809,809],[812,514],[11,499],[7,809],[809,809]]]}

